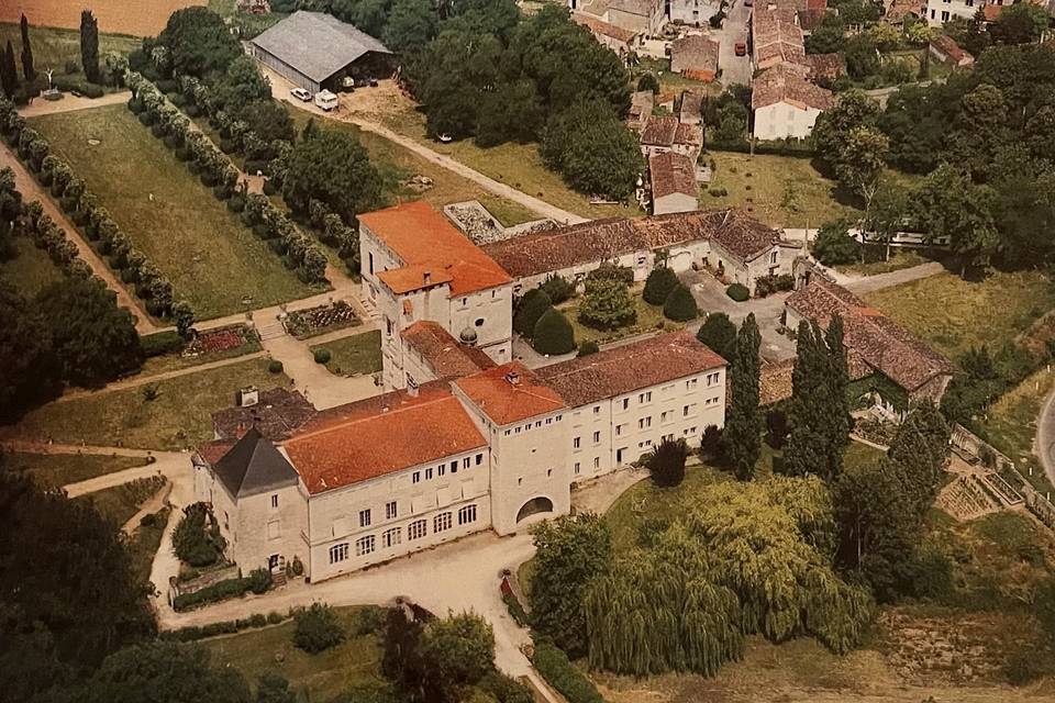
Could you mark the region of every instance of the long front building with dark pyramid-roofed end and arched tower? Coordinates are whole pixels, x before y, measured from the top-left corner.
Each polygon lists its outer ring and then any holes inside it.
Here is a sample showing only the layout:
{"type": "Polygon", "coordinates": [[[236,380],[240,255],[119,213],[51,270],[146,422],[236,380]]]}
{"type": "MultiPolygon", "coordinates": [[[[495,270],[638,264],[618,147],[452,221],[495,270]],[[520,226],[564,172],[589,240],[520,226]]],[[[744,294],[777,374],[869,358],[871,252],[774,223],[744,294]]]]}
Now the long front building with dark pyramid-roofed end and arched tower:
{"type": "Polygon", "coordinates": [[[203,445],[196,496],[244,572],[299,560],[318,582],[522,531],[568,513],[577,480],[664,438],[699,446],[704,427],[724,424],[725,367],[685,332],[534,371],[492,365],[318,412],[281,439],[249,427],[203,445]]]}

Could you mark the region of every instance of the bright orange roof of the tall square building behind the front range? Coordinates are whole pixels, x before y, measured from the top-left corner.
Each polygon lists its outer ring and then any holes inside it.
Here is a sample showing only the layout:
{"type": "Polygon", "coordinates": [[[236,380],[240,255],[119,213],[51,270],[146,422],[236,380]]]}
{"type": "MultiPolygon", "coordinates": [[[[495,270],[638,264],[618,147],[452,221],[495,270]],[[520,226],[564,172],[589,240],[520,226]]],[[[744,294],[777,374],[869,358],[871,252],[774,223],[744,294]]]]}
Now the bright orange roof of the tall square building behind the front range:
{"type": "MultiPolygon", "coordinates": [[[[509,275],[429,203],[415,201],[360,214],[359,222],[402,259],[421,267],[397,279],[406,287],[429,268],[434,277],[451,279],[451,295],[503,286],[509,275]]],[[[386,283],[387,284],[387,283],[386,283]]]]}

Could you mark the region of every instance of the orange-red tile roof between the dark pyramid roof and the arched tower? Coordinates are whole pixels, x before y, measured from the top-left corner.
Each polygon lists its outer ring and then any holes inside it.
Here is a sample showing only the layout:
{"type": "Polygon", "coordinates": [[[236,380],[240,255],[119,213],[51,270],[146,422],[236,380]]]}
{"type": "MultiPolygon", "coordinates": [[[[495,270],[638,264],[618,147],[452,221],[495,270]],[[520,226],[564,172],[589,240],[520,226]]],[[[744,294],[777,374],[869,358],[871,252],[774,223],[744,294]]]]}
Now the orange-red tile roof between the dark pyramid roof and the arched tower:
{"type": "Polygon", "coordinates": [[[282,445],[312,494],[487,446],[445,383],[333,410],[282,445]]]}

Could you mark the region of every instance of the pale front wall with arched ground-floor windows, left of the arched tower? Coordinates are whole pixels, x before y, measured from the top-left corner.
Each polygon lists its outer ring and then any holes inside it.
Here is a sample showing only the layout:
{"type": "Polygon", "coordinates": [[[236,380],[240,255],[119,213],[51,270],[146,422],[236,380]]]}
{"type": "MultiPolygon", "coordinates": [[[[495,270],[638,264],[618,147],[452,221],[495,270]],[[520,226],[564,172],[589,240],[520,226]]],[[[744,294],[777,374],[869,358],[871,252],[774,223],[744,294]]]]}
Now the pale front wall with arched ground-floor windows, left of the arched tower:
{"type": "MultiPolygon", "coordinates": [[[[413,438],[408,437],[408,442],[413,438]]],[[[490,527],[489,454],[487,448],[476,449],[312,495],[309,567],[312,581],[355,571],[490,527]],[[452,467],[452,462],[455,466],[452,467]],[[441,468],[443,476],[440,475],[441,468]],[[395,517],[387,513],[390,502],[396,503],[395,517]],[[468,505],[476,505],[476,520],[459,524],[458,511],[468,505]],[[366,510],[369,511],[369,524],[363,525],[360,511],[366,510]],[[437,531],[437,517],[442,521],[447,513],[451,513],[451,526],[437,531]],[[424,534],[411,538],[411,524],[421,520],[425,521],[424,534]],[[398,531],[398,544],[385,544],[389,531],[398,531]],[[370,537],[373,550],[357,554],[357,545],[363,545],[360,540],[370,537]],[[331,548],[340,555],[343,545],[347,545],[347,556],[331,561],[331,548]]]]}

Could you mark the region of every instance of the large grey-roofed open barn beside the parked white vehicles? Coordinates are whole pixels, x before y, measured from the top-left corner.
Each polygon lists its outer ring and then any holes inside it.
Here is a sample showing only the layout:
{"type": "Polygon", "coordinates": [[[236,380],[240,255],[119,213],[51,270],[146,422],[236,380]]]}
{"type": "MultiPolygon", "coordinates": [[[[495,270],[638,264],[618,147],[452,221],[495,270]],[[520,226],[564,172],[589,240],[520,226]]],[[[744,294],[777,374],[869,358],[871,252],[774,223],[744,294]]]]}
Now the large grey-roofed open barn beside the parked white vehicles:
{"type": "Polygon", "coordinates": [[[249,53],[301,88],[336,91],[351,76],[387,78],[395,57],[384,44],[322,12],[300,10],[249,41],[249,53]]]}

